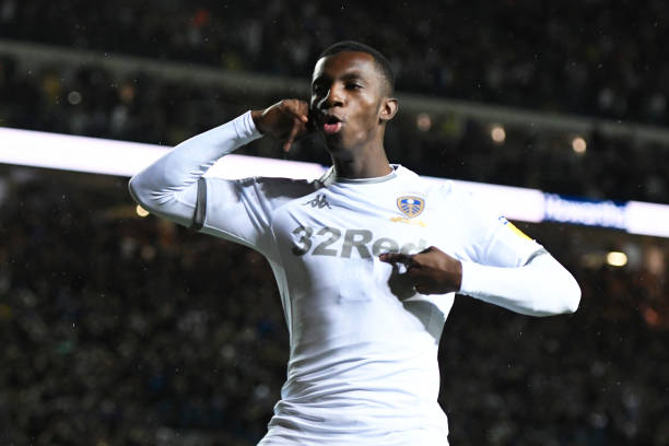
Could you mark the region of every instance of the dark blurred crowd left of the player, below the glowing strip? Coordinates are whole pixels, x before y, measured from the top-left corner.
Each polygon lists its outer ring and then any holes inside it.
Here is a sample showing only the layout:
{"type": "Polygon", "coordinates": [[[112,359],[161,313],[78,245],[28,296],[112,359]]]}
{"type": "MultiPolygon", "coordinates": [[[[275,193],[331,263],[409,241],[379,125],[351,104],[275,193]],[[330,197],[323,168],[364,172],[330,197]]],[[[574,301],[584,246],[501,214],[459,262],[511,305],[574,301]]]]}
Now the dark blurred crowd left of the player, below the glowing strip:
{"type": "Polygon", "coordinates": [[[260,255],[139,220],[126,180],[19,184],[0,212],[0,444],[257,441],[287,344],[260,255]]]}

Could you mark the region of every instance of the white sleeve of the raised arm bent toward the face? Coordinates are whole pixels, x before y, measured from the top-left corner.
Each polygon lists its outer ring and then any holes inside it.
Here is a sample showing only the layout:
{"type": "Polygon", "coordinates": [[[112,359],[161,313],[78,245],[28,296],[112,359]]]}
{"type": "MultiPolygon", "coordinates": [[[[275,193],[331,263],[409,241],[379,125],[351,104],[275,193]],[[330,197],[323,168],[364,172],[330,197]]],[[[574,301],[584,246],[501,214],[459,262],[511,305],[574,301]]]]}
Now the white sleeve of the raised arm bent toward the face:
{"type": "Polygon", "coordinates": [[[260,137],[247,111],[175,146],[130,179],[130,193],[156,215],[262,251],[270,213],[262,180],[202,177],[221,156],[260,137]]]}

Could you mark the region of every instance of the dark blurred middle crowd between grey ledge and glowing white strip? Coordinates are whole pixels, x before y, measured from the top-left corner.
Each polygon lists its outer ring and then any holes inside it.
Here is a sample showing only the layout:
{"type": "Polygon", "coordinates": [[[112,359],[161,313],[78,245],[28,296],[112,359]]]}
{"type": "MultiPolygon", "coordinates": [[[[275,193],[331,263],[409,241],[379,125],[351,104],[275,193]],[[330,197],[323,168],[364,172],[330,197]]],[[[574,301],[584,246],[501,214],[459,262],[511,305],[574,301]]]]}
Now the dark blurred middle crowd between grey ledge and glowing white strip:
{"type": "MultiPolygon", "coordinates": [[[[280,94],[280,93],[277,93],[280,94]]],[[[115,74],[96,66],[56,64],[26,71],[0,56],[0,126],[175,145],[277,97],[221,91],[215,85],[174,82],[141,72],[115,74]]],[[[388,126],[392,162],[422,175],[539,188],[592,199],[669,202],[669,146],[634,139],[508,127],[503,141],[490,122],[444,113],[412,114],[400,107],[388,126]]],[[[283,156],[267,139],[239,153],[283,156]]],[[[330,164],[318,138],[306,138],[291,159],[330,164]]]]}

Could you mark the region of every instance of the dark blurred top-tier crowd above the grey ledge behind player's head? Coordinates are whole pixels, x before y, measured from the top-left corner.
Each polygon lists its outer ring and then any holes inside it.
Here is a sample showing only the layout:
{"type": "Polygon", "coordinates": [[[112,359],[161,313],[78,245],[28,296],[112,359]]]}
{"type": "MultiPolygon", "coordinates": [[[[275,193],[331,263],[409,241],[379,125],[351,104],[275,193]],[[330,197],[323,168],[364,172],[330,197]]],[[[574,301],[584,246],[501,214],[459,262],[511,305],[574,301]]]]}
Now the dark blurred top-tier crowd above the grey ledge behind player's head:
{"type": "Polygon", "coordinates": [[[296,77],[352,38],[402,91],[650,124],[669,118],[668,19],[662,0],[0,0],[5,38],[296,77]]]}

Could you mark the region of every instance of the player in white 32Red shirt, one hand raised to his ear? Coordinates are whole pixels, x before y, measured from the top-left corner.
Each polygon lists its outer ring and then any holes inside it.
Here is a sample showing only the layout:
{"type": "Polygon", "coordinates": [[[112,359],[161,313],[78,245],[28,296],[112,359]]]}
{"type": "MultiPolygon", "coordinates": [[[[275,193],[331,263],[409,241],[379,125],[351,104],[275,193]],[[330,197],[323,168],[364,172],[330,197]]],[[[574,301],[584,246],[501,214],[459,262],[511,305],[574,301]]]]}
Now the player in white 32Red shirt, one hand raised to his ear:
{"type": "Polygon", "coordinates": [[[260,445],[447,445],[437,347],[455,293],[535,316],[578,306],[578,284],[541,245],[453,183],[389,164],[392,92],[383,55],[333,45],[308,104],[247,111],[130,180],[151,212],[257,249],[275,274],[290,360],[260,445]],[[289,150],[309,131],[332,159],[316,181],[202,176],[263,134],[289,150]]]}

